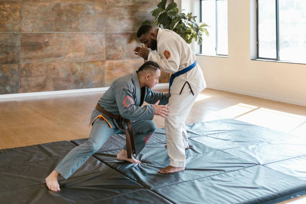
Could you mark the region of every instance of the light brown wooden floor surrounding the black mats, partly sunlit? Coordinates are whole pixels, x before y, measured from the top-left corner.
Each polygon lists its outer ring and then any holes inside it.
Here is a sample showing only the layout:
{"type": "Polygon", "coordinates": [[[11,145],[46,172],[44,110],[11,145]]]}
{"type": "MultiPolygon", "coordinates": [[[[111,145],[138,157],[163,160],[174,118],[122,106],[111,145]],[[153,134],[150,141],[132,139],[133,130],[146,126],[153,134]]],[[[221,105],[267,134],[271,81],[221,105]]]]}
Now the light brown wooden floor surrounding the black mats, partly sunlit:
{"type": "MultiPolygon", "coordinates": [[[[155,91],[167,92],[166,87],[155,91]]],[[[91,112],[104,91],[0,99],[0,149],[88,137],[91,112]]],[[[306,107],[205,89],[188,123],[234,118],[306,136],[306,107]]],[[[158,128],[164,119],[155,116],[158,128]]],[[[306,203],[306,196],[282,203],[306,203]]]]}

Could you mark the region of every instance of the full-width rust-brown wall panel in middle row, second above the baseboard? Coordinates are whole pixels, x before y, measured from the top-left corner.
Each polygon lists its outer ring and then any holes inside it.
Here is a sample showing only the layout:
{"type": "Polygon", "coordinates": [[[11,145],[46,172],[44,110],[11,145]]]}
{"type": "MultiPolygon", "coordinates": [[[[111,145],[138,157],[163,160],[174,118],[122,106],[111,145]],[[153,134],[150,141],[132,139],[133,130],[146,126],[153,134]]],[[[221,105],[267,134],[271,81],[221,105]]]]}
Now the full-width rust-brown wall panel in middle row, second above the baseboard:
{"type": "Polygon", "coordinates": [[[105,32],[21,33],[21,63],[105,60],[105,32]]]}

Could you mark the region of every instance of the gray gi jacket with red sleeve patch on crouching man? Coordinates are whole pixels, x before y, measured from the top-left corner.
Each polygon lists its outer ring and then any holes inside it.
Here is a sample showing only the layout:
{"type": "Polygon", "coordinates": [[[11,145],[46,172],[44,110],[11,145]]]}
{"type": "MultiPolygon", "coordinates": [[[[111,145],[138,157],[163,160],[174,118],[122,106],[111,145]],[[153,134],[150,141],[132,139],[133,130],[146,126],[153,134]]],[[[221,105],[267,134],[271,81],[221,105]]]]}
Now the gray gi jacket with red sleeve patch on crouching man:
{"type": "MultiPolygon", "coordinates": [[[[152,91],[147,87],[140,89],[139,79],[135,71],[132,74],[114,80],[98,103],[106,111],[115,115],[121,115],[123,118],[132,121],[152,120],[155,113],[155,106],[153,104],[158,100],[160,100],[159,105],[166,105],[169,101],[169,94],[152,91]],[[144,101],[152,105],[141,107],[144,101]]],[[[95,109],[91,115],[91,122],[100,114],[102,113],[95,109]]],[[[118,121],[109,117],[106,117],[106,120],[111,126],[121,129],[118,121]]]]}

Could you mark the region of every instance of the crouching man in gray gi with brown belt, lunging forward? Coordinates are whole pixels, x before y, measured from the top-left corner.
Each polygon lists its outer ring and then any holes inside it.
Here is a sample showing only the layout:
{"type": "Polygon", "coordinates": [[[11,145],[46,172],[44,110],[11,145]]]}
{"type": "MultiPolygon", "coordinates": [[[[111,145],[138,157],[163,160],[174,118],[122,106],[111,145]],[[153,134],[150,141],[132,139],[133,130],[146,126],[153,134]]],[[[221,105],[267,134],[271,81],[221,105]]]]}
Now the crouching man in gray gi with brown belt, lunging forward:
{"type": "MultiPolygon", "coordinates": [[[[155,62],[145,62],[138,71],[116,79],[110,88],[98,101],[91,115],[92,129],[86,143],[73,148],[46,178],[47,187],[52,191],[59,191],[58,176],[65,179],[73,174],[92,154],[98,151],[106,140],[113,134],[124,134],[121,121],[109,117],[121,115],[122,118],[132,120],[132,132],[135,134],[136,152],[139,154],[155,132],[156,125],[152,121],[154,115],[166,118],[169,115],[169,95],[152,91],[160,77],[160,68],[155,62]],[[143,102],[151,105],[142,106],[143,102]],[[158,105],[161,104],[161,105],[158,105]],[[100,112],[97,109],[99,109],[100,112]]],[[[130,150],[128,150],[130,151],[130,150]]],[[[127,147],[123,147],[117,155],[119,160],[140,164],[136,158],[127,154],[127,147]]]]}

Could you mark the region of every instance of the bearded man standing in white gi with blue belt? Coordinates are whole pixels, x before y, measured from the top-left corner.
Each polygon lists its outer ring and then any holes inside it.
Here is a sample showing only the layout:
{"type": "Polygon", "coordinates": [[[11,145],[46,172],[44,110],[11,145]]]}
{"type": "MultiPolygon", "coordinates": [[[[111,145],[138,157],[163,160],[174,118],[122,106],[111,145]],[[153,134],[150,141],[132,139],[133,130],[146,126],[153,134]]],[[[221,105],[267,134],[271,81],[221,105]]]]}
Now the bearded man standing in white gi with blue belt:
{"type": "Polygon", "coordinates": [[[177,33],[142,25],[137,38],[145,47],[136,47],[136,55],[144,61],[156,62],[162,71],[171,73],[169,103],[171,113],[165,119],[166,140],[170,165],[159,170],[172,173],[185,170],[185,149],[189,148],[185,120],[197,95],[206,88],[203,72],[196,63],[196,56],[184,39],[177,33]],[[157,50],[157,54],[151,53],[157,50]],[[187,86],[185,86],[187,84],[187,86]]]}

